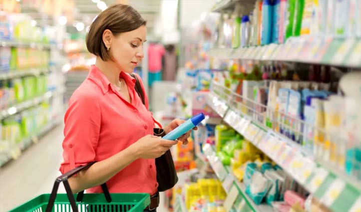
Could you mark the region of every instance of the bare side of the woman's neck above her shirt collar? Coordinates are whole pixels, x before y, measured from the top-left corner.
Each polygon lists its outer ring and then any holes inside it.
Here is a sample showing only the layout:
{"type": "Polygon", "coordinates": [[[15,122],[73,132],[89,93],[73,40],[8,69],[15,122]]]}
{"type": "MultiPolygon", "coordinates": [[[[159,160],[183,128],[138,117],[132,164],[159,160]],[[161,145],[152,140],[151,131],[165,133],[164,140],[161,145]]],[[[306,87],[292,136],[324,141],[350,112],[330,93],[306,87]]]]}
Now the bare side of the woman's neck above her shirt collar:
{"type": "Polygon", "coordinates": [[[100,57],[96,57],[95,66],[108,78],[109,82],[118,85],[120,68],[112,61],[103,61],[100,57]]]}

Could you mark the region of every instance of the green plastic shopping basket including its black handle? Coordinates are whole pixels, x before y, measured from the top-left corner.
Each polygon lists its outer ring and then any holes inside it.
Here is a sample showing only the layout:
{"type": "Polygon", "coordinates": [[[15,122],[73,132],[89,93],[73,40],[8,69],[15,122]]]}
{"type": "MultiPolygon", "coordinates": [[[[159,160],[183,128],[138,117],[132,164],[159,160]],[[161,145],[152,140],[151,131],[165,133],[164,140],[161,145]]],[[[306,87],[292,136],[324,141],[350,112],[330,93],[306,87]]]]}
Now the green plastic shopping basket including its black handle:
{"type": "Polygon", "coordinates": [[[83,191],[73,195],[68,178],[94,163],[77,167],[56,178],[51,194],[40,195],[10,212],[143,212],[150,204],[149,194],[110,194],[105,183],[101,185],[103,194],[84,194],[83,191]],[[66,194],[57,194],[61,182],[66,194]]]}

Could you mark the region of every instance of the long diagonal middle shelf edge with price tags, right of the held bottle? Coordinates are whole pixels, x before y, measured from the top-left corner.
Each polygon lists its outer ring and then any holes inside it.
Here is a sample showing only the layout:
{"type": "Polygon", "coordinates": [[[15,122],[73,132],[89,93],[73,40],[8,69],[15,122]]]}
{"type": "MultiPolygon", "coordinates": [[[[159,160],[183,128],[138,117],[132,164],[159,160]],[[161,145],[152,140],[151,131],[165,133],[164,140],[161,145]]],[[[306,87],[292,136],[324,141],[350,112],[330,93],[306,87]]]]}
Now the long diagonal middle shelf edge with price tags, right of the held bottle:
{"type": "MultiPolygon", "coordinates": [[[[213,87],[219,92],[218,88],[221,86],[213,84],[213,87]]],[[[314,197],[333,211],[340,211],[340,203],[348,203],[342,205],[351,207],[358,201],[357,198],[361,196],[361,181],[346,176],[343,171],[333,168],[330,162],[315,158],[301,145],[268,128],[259,121],[259,114],[253,113],[250,116],[245,112],[251,110],[247,103],[234,102],[235,97],[240,98],[241,102],[246,98],[227,88],[222,89],[226,91],[221,94],[222,97],[210,92],[208,104],[224,117],[227,124],[281,166],[314,197]]],[[[341,210],[348,211],[345,208],[341,210]]]]}

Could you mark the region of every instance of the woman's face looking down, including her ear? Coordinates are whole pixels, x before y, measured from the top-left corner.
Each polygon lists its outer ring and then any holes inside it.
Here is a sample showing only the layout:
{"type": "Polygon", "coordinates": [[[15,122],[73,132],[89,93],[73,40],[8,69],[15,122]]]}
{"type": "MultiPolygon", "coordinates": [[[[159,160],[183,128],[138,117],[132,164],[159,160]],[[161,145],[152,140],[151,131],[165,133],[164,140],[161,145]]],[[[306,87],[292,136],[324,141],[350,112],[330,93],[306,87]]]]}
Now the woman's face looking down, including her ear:
{"type": "Polygon", "coordinates": [[[145,25],[133,31],[122,32],[113,36],[110,44],[110,55],[126,73],[132,73],[143,57],[143,43],[145,42],[147,29],[145,25]]]}

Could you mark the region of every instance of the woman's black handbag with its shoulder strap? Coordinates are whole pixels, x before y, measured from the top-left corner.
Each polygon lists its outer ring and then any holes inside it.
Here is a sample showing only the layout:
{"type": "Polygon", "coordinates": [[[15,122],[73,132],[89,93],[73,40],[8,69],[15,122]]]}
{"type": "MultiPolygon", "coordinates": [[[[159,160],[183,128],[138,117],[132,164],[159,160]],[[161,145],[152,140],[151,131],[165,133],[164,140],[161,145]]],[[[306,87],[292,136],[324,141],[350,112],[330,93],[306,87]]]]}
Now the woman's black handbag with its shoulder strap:
{"type": "MultiPolygon", "coordinates": [[[[135,79],[135,91],[138,93],[143,104],[145,104],[144,93],[138,77],[136,77],[135,74],[130,75],[135,79]]],[[[153,132],[155,136],[165,136],[165,132],[161,128],[154,128],[153,132]]],[[[162,156],[155,159],[155,166],[157,169],[158,192],[164,192],[173,188],[178,182],[178,176],[174,167],[170,150],[166,151],[162,156]]]]}

